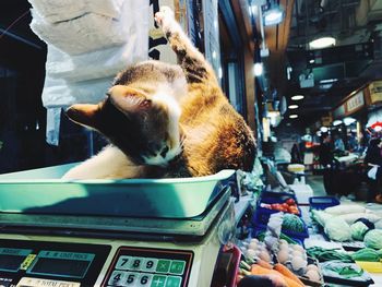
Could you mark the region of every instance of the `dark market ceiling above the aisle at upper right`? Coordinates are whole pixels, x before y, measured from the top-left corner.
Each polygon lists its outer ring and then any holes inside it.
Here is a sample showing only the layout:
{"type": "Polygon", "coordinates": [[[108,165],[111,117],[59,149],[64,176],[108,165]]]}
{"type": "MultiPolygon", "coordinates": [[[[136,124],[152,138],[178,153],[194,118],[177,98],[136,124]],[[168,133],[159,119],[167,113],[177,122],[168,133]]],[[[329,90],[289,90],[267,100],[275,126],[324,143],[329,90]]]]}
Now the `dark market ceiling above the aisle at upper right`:
{"type": "MultiPolygon", "coordinates": [[[[309,125],[368,81],[382,79],[382,0],[278,0],[278,3],[286,16],[283,23],[265,28],[270,56],[262,58],[265,73],[261,82],[267,100],[286,96],[290,105],[291,96],[305,95],[303,100],[294,103],[299,105],[294,110],[299,118],[294,122],[309,125]],[[329,35],[336,38],[335,47],[309,49],[310,40],[329,35]],[[312,86],[303,81],[309,76],[314,79],[312,86]],[[273,96],[270,98],[266,93],[273,96]]],[[[289,110],[285,113],[286,122],[291,121],[290,113],[289,110]]]]}

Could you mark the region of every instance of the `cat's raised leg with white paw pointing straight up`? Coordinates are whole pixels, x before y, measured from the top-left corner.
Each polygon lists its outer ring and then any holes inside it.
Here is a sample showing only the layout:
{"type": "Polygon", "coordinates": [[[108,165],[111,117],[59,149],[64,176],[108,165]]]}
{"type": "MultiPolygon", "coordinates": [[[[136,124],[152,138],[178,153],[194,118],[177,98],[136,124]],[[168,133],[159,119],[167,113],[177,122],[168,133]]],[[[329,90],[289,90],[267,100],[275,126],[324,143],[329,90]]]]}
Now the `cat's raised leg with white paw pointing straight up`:
{"type": "Polygon", "coordinates": [[[172,10],[168,7],[160,7],[159,12],[155,13],[155,21],[177,53],[178,63],[182,68],[187,81],[189,83],[204,81],[217,83],[214,70],[175,20],[172,10]]]}

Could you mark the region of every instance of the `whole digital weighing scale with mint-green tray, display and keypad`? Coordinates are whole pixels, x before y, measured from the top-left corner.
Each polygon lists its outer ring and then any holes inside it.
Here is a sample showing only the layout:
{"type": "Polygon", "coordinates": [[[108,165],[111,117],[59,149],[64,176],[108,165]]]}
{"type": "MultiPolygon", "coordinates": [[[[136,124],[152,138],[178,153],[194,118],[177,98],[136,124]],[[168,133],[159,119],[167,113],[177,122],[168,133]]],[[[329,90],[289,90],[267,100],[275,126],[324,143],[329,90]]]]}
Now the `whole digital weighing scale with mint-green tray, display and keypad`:
{"type": "Polygon", "coordinates": [[[0,286],[211,286],[235,235],[232,170],[58,179],[71,167],[0,176],[0,286]]]}

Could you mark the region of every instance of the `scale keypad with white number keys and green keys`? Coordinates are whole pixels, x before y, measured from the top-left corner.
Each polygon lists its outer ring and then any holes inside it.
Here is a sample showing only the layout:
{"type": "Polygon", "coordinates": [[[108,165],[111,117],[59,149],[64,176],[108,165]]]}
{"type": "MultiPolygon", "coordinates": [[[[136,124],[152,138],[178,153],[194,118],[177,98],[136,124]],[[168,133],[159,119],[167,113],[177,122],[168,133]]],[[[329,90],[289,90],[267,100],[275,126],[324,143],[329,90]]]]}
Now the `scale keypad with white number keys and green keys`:
{"type": "Polygon", "coordinates": [[[107,286],[184,287],[192,252],[121,248],[107,286]]]}

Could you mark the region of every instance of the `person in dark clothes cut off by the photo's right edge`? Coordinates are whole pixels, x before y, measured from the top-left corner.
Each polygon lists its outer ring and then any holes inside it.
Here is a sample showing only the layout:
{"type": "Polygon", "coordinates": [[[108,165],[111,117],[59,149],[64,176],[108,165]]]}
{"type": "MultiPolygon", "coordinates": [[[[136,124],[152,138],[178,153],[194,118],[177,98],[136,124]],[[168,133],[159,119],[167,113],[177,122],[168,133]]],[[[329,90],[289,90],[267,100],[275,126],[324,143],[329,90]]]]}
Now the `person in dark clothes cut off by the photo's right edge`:
{"type": "Polygon", "coordinates": [[[368,192],[368,202],[382,203],[382,194],[380,193],[382,187],[382,141],[381,139],[374,137],[369,142],[368,150],[366,151],[365,164],[368,165],[367,170],[369,171],[374,166],[378,166],[375,179],[369,178],[370,190],[368,192]]]}

